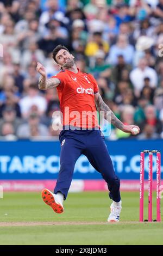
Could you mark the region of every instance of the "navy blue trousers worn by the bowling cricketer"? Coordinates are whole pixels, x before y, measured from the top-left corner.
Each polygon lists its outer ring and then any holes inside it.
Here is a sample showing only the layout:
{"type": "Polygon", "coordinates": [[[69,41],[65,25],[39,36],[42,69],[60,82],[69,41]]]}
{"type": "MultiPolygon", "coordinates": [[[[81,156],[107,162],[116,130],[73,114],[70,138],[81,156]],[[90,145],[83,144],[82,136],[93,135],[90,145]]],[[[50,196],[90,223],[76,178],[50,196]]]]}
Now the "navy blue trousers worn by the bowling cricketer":
{"type": "Polygon", "coordinates": [[[54,193],[60,191],[66,199],[74,165],[79,156],[83,154],[108,184],[109,197],[119,202],[121,200],[120,179],[115,174],[101,131],[63,130],[60,132],[59,139],[61,143],[60,171],[54,193]]]}

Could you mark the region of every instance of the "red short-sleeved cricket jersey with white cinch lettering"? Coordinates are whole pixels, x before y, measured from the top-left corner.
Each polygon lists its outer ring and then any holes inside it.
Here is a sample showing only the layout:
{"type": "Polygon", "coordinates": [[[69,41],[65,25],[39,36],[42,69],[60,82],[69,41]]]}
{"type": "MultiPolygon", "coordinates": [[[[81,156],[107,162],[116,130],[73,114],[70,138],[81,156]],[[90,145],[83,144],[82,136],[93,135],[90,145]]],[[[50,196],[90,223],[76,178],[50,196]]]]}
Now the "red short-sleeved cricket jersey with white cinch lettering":
{"type": "Polygon", "coordinates": [[[99,127],[94,94],[98,85],[91,74],[62,70],[53,76],[60,80],[57,87],[60,110],[64,126],[76,126],[91,129],[99,127]]]}

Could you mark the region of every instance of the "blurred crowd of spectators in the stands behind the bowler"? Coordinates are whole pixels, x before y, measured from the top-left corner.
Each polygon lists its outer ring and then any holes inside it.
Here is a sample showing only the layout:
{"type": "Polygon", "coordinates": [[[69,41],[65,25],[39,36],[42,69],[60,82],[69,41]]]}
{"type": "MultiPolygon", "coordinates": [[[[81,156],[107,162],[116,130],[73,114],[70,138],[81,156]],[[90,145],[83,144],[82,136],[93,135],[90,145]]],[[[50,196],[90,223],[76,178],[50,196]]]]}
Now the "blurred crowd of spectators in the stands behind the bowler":
{"type": "MultiPolygon", "coordinates": [[[[36,63],[57,74],[62,44],[115,115],[140,126],[135,139],[163,138],[163,0],[0,0],[0,44],[0,136],[59,135],[56,89],[38,89],[36,63]]],[[[108,139],[123,138],[111,127],[108,139]]]]}

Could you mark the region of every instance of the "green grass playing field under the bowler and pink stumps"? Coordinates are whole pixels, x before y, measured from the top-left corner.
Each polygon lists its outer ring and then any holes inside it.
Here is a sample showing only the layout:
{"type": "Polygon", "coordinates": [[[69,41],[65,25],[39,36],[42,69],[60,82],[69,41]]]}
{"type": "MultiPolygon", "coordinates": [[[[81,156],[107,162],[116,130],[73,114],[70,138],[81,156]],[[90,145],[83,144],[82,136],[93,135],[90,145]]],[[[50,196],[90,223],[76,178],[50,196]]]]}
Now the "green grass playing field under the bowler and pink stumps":
{"type": "MultiPolygon", "coordinates": [[[[108,192],[70,193],[60,215],[43,203],[41,193],[5,192],[0,245],[162,245],[163,222],[139,223],[139,193],[121,195],[121,221],[108,223],[108,192]]],[[[153,205],[155,218],[155,194],[153,205]]],[[[145,207],[147,218],[147,200],[145,207]]]]}

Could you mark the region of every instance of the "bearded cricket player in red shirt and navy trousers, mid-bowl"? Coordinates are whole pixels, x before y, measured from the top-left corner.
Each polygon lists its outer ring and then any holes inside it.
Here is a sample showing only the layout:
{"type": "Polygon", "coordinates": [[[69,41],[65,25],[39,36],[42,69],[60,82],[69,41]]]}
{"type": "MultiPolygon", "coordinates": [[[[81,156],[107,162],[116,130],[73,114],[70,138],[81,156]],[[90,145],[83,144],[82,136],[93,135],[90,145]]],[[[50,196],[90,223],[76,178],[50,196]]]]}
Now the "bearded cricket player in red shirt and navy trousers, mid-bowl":
{"type": "MultiPolygon", "coordinates": [[[[109,113],[110,123],[123,132],[136,135],[140,129],[136,125],[124,125],[115,116],[99,94],[95,78],[91,74],[80,72],[74,57],[65,46],[58,45],[54,48],[53,59],[61,71],[52,78],[47,79],[46,70],[41,63],[37,63],[36,68],[41,75],[40,90],[57,88],[62,113],[62,131],[59,135],[60,170],[57,184],[54,193],[45,188],[42,191],[42,199],[54,212],[64,212],[63,202],[71,185],[74,165],[79,156],[84,154],[108,185],[109,198],[112,199],[108,222],[119,222],[122,209],[120,179],[115,174],[97,115],[93,113],[103,111],[105,119],[109,113]],[[86,112],[89,113],[87,118],[84,116],[86,112]]],[[[100,202],[98,205],[100,207],[100,202]]]]}

